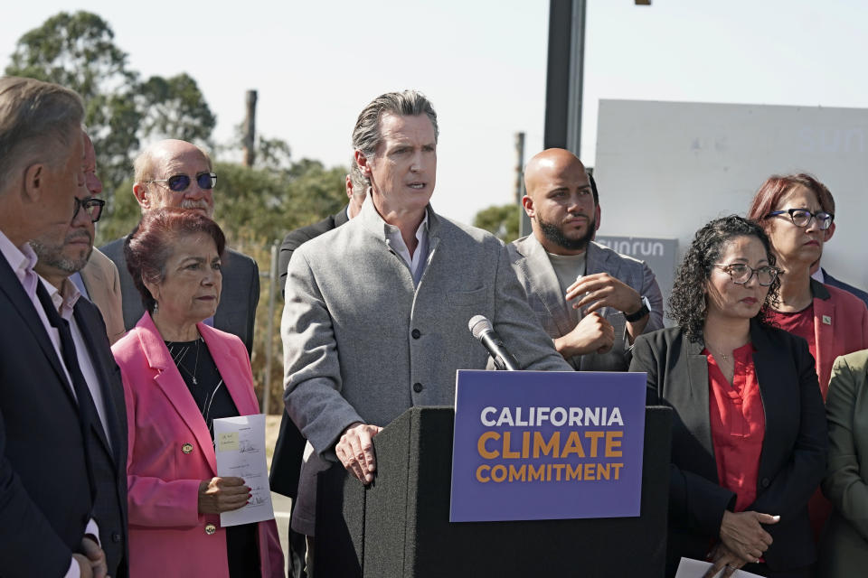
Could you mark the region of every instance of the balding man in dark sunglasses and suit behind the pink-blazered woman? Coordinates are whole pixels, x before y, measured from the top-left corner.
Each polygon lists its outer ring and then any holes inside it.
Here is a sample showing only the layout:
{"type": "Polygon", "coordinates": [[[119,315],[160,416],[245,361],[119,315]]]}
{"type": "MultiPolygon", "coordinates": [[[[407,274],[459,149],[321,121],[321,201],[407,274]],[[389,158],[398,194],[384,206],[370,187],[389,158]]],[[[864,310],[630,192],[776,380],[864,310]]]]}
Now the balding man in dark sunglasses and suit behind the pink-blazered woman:
{"type": "MultiPolygon", "coordinates": [[[[213,187],[217,175],[212,172],[211,158],[195,144],[165,140],[152,144],[136,163],[136,196],[142,212],[164,207],[196,210],[207,217],[214,212],[213,187]]],[[[124,241],[118,238],[99,249],[118,266],[120,293],[127,331],[145,313],[141,296],[127,270],[124,241]]],[[[259,303],[259,267],[256,261],[231,248],[222,259],[223,290],[213,319],[206,323],[237,335],[250,353],[253,350],[253,323],[259,303]]]]}

